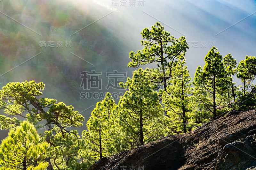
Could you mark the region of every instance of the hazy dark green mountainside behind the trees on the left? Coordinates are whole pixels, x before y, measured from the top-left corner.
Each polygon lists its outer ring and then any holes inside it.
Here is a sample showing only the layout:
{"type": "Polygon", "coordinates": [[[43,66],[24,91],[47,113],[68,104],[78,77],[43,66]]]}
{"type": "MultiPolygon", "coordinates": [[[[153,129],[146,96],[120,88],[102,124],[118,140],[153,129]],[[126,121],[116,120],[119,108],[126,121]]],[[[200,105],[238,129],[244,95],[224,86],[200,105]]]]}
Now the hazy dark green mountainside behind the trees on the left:
{"type": "MultiPolygon", "coordinates": [[[[87,92],[80,87],[81,72],[95,70],[101,73],[100,92],[116,91],[105,88],[108,84],[106,72],[117,70],[131,75],[127,60],[133,44],[119,35],[117,30],[122,22],[115,21],[118,20],[115,13],[102,18],[110,10],[89,2],[81,5],[78,1],[0,3],[1,11],[8,16],[0,14],[1,87],[12,81],[42,81],[46,85],[44,97],[63,101],[81,112],[102,100],[97,97],[80,99],[80,93],[87,92]],[[114,25],[115,22],[118,24],[114,25]],[[41,44],[43,41],[45,46],[41,44]],[[58,41],[62,46],[57,45],[58,41]]],[[[90,92],[98,91],[99,88],[94,88],[90,92]]],[[[85,120],[91,110],[82,113],[85,120]]]]}

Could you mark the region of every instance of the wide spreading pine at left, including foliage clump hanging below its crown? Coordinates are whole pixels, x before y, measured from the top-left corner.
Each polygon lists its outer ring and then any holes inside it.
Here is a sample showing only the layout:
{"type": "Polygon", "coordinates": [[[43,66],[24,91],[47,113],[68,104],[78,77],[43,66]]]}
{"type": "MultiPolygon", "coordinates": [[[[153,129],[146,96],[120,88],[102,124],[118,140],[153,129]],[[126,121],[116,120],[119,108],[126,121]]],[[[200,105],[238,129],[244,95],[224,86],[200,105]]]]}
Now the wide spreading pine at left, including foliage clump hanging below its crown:
{"type": "MultiPolygon", "coordinates": [[[[44,140],[51,144],[48,158],[53,160],[54,166],[67,168],[68,160],[75,157],[79,150],[79,136],[76,131],[68,130],[70,127],[81,127],[84,117],[74,107],[66,106],[63,102],[56,103],[54,99],[40,98],[44,90],[42,82],[35,81],[8,83],[0,91],[0,107],[5,114],[2,115],[0,124],[2,129],[15,128],[19,125],[21,117],[34,124],[36,128],[47,126],[44,140]],[[26,115],[24,115],[26,114],[26,115]],[[52,135],[54,132],[55,135],[52,135]],[[68,149],[68,150],[66,150],[68,149]],[[65,154],[64,154],[65,153],[65,154]],[[63,161],[66,159],[66,161],[63,161]]],[[[51,161],[48,161],[51,165],[51,161]]]]}

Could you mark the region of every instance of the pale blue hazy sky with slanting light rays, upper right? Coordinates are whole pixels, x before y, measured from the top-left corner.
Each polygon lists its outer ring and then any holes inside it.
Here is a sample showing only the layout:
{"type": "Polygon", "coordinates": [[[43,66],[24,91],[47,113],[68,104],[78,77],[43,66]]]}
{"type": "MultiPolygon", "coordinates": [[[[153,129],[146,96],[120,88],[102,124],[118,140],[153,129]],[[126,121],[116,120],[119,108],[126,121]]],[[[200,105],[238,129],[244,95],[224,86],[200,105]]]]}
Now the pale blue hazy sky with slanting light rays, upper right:
{"type": "Polygon", "coordinates": [[[124,28],[132,29],[133,41],[138,43],[138,49],[132,51],[142,49],[141,31],[157,21],[175,38],[185,36],[189,44],[185,57],[192,77],[199,65],[204,66],[204,57],[212,46],[222,57],[230,53],[237,65],[246,55],[255,56],[254,0],[135,0],[135,5],[130,0],[94,2],[115,11],[111,15],[117,14],[127,24],[124,28]]]}

